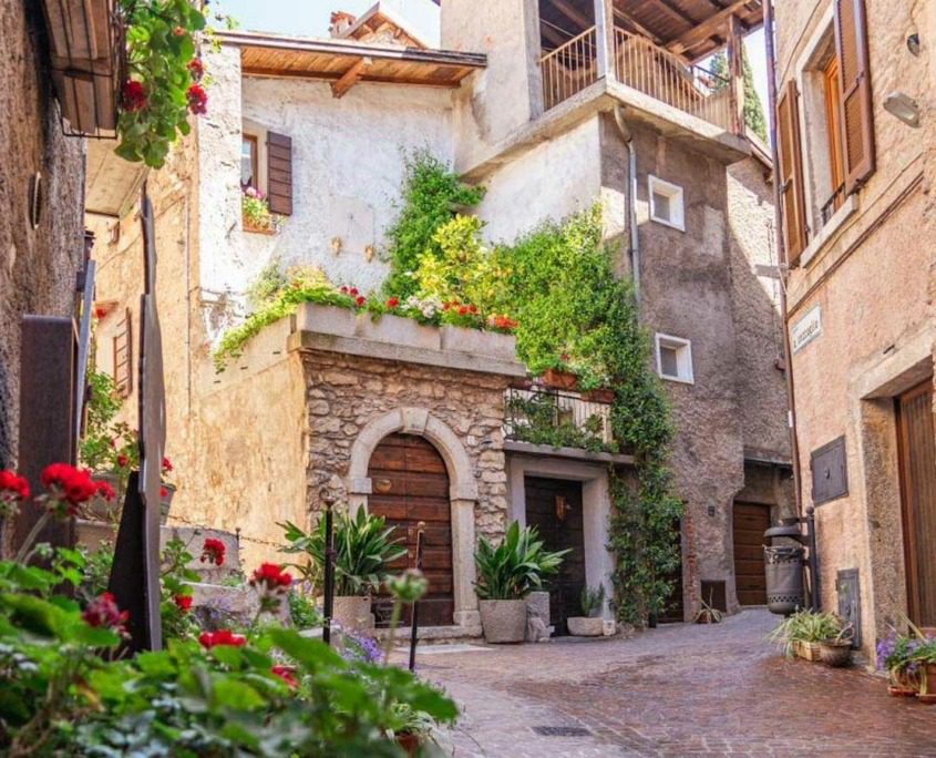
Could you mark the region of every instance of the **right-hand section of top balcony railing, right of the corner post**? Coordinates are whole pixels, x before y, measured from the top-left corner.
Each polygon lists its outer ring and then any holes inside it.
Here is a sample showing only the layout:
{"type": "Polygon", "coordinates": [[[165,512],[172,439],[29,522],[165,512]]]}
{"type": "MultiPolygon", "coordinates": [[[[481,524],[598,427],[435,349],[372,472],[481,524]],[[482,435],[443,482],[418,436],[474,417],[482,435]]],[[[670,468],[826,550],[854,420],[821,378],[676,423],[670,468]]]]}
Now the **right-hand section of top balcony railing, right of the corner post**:
{"type": "Polygon", "coordinates": [[[638,34],[615,29],[618,81],[685,113],[732,130],[731,88],[723,76],[658,48],[638,34]]]}

